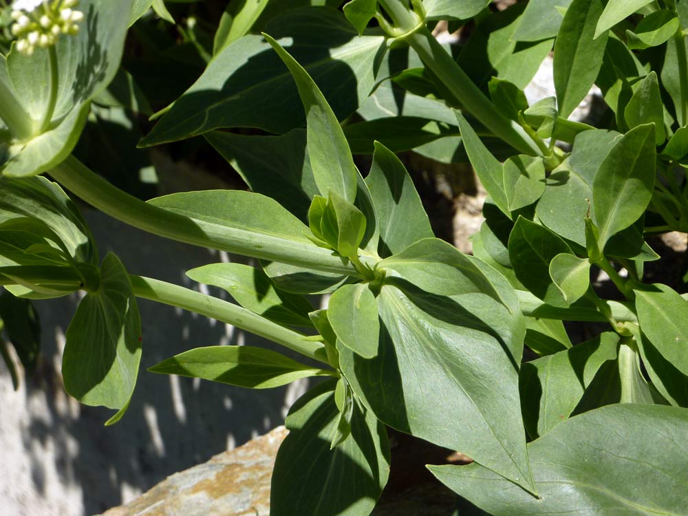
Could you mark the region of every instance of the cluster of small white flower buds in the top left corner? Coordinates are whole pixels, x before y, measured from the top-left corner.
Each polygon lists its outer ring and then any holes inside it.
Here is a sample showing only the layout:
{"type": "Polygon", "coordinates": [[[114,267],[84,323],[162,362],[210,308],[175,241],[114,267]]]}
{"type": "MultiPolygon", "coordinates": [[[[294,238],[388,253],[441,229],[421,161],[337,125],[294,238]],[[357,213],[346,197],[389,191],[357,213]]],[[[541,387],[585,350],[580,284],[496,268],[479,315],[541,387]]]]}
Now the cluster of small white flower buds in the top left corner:
{"type": "Polygon", "coordinates": [[[12,34],[17,50],[31,55],[36,47],[54,45],[60,34],[76,34],[84,14],[74,10],[78,0],[14,0],[12,34]]]}

